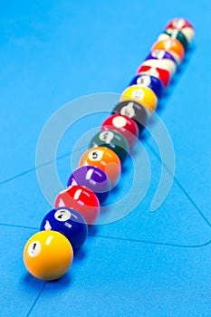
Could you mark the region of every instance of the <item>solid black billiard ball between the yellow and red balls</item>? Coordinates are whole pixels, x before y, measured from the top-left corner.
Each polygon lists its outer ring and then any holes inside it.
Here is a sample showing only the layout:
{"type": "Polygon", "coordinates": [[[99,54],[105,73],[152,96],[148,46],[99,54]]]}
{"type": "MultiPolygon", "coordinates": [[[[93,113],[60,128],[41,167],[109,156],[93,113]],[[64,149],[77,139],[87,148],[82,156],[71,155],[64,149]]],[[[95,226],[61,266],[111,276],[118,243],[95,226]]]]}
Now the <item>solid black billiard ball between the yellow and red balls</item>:
{"type": "MultiPolygon", "coordinates": [[[[139,77],[139,76],[136,76],[136,77],[139,77]]],[[[138,82],[142,82],[142,81],[139,81],[138,79],[138,82]]],[[[146,86],[147,86],[147,83],[149,83],[149,81],[144,81],[144,82],[146,83],[146,86]]],[[[141,131],[147,126],[148,119],[149,119],[148,111],[143,106],[141,106],[141,104],[139,104],[138,102],[135,102],[135,101],[119,102],[112,110],[112,114],[115,114],[115,113],[120,113],[124,116],[131,118],[132,120],[135,120],[139,127],[139,135],[141,134],[141,131]]]]}

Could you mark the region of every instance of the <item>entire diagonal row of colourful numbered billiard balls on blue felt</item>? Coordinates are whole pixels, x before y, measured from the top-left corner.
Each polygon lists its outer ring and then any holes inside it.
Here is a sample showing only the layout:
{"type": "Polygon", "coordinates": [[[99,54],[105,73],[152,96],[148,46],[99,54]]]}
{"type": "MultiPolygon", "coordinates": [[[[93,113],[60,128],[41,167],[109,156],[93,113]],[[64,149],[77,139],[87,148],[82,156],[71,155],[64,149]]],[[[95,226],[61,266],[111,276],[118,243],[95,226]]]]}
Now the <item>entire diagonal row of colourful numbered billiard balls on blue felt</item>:
{"type": "Polygon", "coordinates": [[[94,224],[101,204],[118,183],[129,149],[156,110],[193,36],[194,28],[185,19],[173,19],[167,25],[121,94],[120,103],[91,139],[79,168],[55,198],[54,209],[44,216],[41,231],[24,246],[24,264],[36,278],[56,280],[71,266],[73,254],[85,242],[88,226],[94,224]]]}

